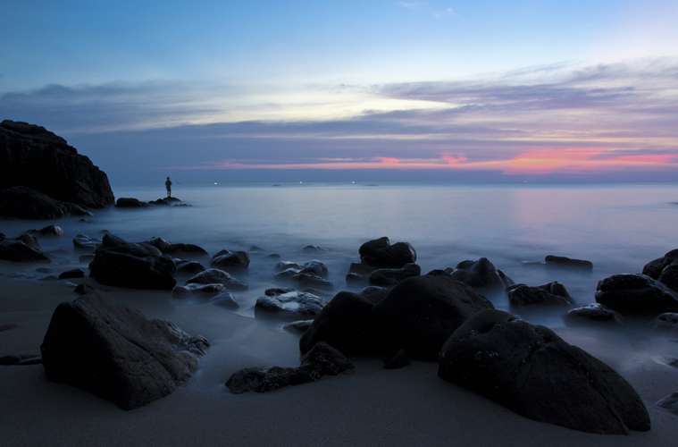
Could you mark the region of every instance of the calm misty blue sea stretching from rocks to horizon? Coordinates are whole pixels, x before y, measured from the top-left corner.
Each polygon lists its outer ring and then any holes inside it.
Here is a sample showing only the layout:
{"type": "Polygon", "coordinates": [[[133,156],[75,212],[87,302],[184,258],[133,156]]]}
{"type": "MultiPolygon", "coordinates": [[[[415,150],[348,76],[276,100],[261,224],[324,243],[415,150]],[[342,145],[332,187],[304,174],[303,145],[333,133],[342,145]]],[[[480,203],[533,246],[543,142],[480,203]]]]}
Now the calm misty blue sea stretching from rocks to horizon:
{"type": "MultiPolygon", "coordinates": [[[[113,192],[145,201],[164,196],[163,184],[117,186],[113,192]]],[[[44,249],[71,252],[76,234],[101,237],[102,230],[131,241],[159,236],[194,243],[210,254],[255,245],[282,260],[322,260],[337,291],[350,290],[344,277],[349,264],[359,261],[360,245],[388,236],[391,243],[414,246],[424,273],[488,257],[516,283],[560,281],[582,304],[594,300],[599,280],[638,273],[678,248],[678,184],[175,184],[172,193],[191,207],[111,208],[88,219],[91,223],[0,221],[0,232],[16,236],[55,223],[67,238],[43,240],[44,249]],[[324,250],[307,255],[302,253],[307,245],[324,250]],[[588,259],[593,273],[522,264],[547,255],[588,259]]],[[[63,254],[56,264],[78,261],[63,254]]],[[[251,289],[237,296],[245,304],[242,313],[275,285],[273,264],[253,257],[253,273],[242,278],[251,289]]],[[[7,273],[35,266],[0,268],[7,273]]],[[[506,308],[502,297],[490,299],[506,308]]]]}

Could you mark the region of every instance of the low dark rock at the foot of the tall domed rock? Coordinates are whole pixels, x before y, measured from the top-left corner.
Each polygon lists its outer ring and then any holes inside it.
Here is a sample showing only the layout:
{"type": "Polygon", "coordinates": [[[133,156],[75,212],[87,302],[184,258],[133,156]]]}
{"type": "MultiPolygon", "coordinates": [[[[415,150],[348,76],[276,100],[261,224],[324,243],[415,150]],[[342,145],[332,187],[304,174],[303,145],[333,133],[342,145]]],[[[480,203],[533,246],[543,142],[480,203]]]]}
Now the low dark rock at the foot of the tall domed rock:
{"type": "Polygon", "coordinates": [[[62,202],[44,192],[23,186],[0,190],[0,215],[19,219],[59,219],[67,215],[92,215],[87,208],[62,202]]]}

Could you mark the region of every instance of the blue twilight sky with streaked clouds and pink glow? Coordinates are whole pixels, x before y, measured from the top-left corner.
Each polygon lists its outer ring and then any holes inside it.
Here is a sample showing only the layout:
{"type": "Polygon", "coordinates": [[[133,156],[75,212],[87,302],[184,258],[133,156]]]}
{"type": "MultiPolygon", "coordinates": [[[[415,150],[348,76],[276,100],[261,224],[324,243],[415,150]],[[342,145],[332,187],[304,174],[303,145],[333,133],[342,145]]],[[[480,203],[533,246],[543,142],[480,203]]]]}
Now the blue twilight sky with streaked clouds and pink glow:
{"type": "Polygon", "coordinates": [[[678,181],[675,0],[2,0],[0,120],[113,184],[678,181]]]}

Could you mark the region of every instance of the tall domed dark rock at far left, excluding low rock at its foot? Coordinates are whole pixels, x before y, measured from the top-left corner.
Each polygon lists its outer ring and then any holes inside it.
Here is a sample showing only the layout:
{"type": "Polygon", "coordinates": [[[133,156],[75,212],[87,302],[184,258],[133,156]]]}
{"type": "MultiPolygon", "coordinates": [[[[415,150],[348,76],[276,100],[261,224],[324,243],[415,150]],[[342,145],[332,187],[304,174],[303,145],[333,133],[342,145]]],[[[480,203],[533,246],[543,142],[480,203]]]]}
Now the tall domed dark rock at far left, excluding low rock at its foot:
{"type": "Polygon", "coordinates": [[[108,207],[114,200],[106,174],[65,139],[44,127],[5,120],[0,123],[0,190],[13,186],[90,208],[108,207]]]}

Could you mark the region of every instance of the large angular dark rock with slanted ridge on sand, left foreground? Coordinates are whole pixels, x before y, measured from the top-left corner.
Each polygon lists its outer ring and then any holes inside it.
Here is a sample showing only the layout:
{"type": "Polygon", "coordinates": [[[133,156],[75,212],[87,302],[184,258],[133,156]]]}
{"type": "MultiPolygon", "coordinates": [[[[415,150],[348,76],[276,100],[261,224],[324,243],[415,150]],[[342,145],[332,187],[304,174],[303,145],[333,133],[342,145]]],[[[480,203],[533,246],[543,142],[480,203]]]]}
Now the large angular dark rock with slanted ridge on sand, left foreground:
{"type": "Polygon", "coordinates": [[[175,351],[175,337],[104,292],[63,302],[40,347],[47,377],[136,409],[160,399],[197,371],[198,359],[175,351]]]}

